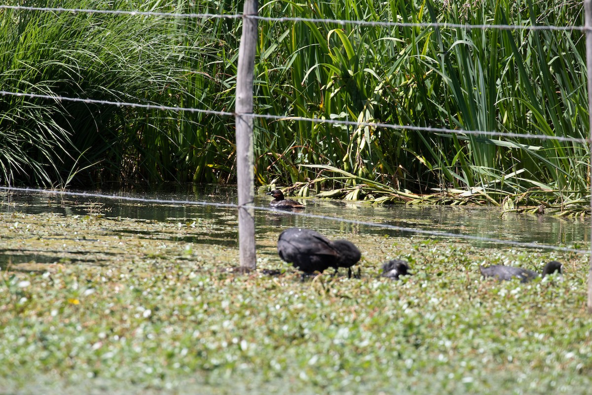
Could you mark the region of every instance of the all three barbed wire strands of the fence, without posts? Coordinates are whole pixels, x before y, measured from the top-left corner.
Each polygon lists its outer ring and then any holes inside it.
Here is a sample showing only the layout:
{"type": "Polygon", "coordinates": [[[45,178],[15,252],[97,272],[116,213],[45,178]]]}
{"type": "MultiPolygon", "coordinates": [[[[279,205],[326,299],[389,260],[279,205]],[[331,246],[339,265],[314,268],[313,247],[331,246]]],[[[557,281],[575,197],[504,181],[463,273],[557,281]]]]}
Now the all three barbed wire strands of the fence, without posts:
{"type": "MultiPolygon", "coordinates": [[[[11,6],[11,5],[0,5],[0,9],[13,9],[13,10],[28,10],[28,11],[42,11],[42,12],[72,12],[72,13],[88,13],[88,14],[110,14],[110,15],[127,15],[133,17],[166,17],[166,18],[228,18],[228,19],[239,19],[239,18],[253,18],[259,21],[269,21],[269,22],[277,22],[277,23],[284,23],[284,22],[304,22],[304,23],[330,23],[330,24],[337,24],[337,25],[359,25],[359,26],[369,26],[369,27],[421,27],[421,28],[460,28],[466,30],[487,30],[487,29],[498,29],[498,30],[552,30],[552,31],[589,31],[587,27],[584,26],[556,26],[556,25],[494,25],[494,24],[480,24],[480,25],[469,25],[469,24],[449,24],[449,23],[401,23],[401,22],[381,22],[381,21],[361,21],[361,20],[332,20],[326,18],[297,18],[297,17],[279,17],[279,18],[269,18],[269,17],[259,17],[254,15],[242,15],[242,14],[199,14],[199,13],[182,13],[182,12],[156,12],[156,11],[126,11],[126,10],[106,10],[106,9],[75,9],[75,8],[49,8],[49,7],[25,7],[25,6],[11,6]]],[[[146,109],[155,109],[155,110],[163,110],[163,111],[188,111],[191,113],[204,113],[204,114],[212,114],[212,115],[219,115],[219,116],[236,116],[236,113],[228,112],[228,111],[215,111],[215,110],[208,110],[208,109],[201,109],[201,108],[192,108],[192,107],[174,107],[174,106],[166,106],[166,105],[159,105],[159,104],[151,104],[151,103],[133,103],[133,102],[124,102],[124,101],[108,101],[102,99],[94,99],[94,98],[76,98],[76,97],[64,97],[60,95],[43,95],[43,94],[33,94],[28,92],[11,92],[2,90],[0,91],[0,95],[12,95],[17,97],[28,97],[28,98],[41,98],[47,99],[49,101],[73,101],[73,102],[83,102],[86,104],[98,104],[98,105],[116,105],[118,107],[126,106],[132,108],[146,108],[146,109]]],[[[342,124],[348,126],[355,126],[355,127],[362,127],[362,126],[370,126],[370,127],[384,127],[387,129],[394,129],[394,130],[416,130],[416,131],[426,131],[429,133],[453,133],[453,134],[474,134],[479,136],[497,136],[497,137],[520,137],[525,139],[540,139],[540,140],[557,140],[561,142],[574,142],[574,143],[590,143],[592,140],[588,139],[580,139],[574,137],[564,137],[564,136],[549,136],[549,135],[542,135],[542,134],[530,134],[530,133],[504,133],[498,131],[485,131],[485,130],[461,130],[461,129],[445,129],[445,128],[437,128],[437,127],[419,127],[413,125],[402,125],[402,124],[388,124],[388,123],[375,123],[375,122],[357,122],[357,121],[343,121],[343,120],[330,120],[330,119],[323,119],[323,118],[308,118],[308,117],[294,117],[289,115],[274,115],[274,114],[240,114],[242,116],[253,117],[253,118],[268,118],[273,120],[290,120],[290,121],[310,121],[313,123],[328,123],[328,124],[342,124]]],[[[89,198],[105,198],[105,199],[112,199],[112,200],[124,200],[124,201],[137,201],[140,203],[149,203],[149,204],[180,204],[180,205],[210,205],[214,207],[224,207],[224,208],[240,208],[240,207],[248,207],[252,208],[253,210],[262,210],[262,211],[272,211],[273,208],[269,207],[257,207],[255,205],[237,205],[237,204],[224,204],[224,203],[212,203],[207,201],[192,201],[192,200],[161,200],[161,199],[147,199],[147,198],[137,198],[137,197],[125,197],[120,195],[105,195],[105,194],[97,194],[93,192],[69,192],[69,191],[55,191],[55,190],[43,190],[43,189],[35,189],[35,188],[14,188],[14,187],[0,187],[2,191],[21,191],[21,192],[36,192],[36,193],[46,193],[46,194],[54,194],[54,195],[66,195],[66,196],[78,196],[78,197],[89,197],[89,198]]],[[[537,249],[550,249],[554,251],[564,251],[564,252],[574,252],[574,253],[584,253],[584,254],[592,254],[592,248],[590,250],[584,249],[577,249],[577,248],[568,248],[562,246],[553,246],[553,245],[543,245],[539,243],[525,243],[525,242],[516,242],[513,240],[502,240],[502,239],[492,239],[488,237],[480,237],[480,236],[471,236],[471,235],[463,235],[457,233],[448,233],[448,232],[437,232],[432,230],[422,230],[422,229],[414,229],[410,227],[401,227],[401,226],[394,226],[390,224],[381,224],[381,223],[374,223],[371,221],[357,221],[357,220],[348,220],[342,219],[339,217],[329,217],[329,216],[320,216],[316,214],[310,213],[300,213],[300,212],[289,212],[289,211],[282,211],[282,214],[285,215],[292,215],[292,216],[304,216],[304,217],[313,217],[317,219],[323,220],[332,220],[332,221],[343,221],[347,223],[353,224],[361,224],[366,226],[372,227],[381,227],[385,229],[392,229],[392,230],[399,230],[403,232],[410,232],[410,233],[417,233],[421,235],[427,236],[435,236],[435,237],[456,237],[459,239],[468,239],[468,240],[478,240],[481,242],[493,242],[493,243],[500,243],[504,245],[512,245],[512,246],[520,246],[524,248],[537,248],[537,249]]]]}

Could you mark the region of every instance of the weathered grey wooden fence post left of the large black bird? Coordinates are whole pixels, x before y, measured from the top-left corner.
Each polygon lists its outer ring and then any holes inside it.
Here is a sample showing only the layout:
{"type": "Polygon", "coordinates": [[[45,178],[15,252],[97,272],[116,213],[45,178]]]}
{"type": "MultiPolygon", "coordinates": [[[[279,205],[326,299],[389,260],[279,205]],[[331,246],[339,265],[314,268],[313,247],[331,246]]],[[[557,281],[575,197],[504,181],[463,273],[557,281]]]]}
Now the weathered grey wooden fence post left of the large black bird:
{"type": "MultiPolygon", "coordinates": [[[[245,0],[243,15],[257,15],[257,0],[245,0]]],[[[253,157],[253,70],[257,20],[244,18],[236,75],[236,176],[239,190],[239,253],[243,272],[255,269],[255,210],[244,207],[255,199],[253,157]]]]}

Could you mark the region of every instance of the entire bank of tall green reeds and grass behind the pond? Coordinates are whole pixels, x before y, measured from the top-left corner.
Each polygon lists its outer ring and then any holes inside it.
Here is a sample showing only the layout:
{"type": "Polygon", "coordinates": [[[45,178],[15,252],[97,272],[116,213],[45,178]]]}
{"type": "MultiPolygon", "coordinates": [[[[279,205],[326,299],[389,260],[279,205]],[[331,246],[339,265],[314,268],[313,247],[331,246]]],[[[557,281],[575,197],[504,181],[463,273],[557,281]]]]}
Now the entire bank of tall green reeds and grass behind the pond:
{"type": "MultiPolygon", "coordinates": [[[[34,2],[52,4],[58,3],[34,2]]],[[[237,1],[87,0],[59,6],[218,14],[240,9],[237,1]]],[[[583,24],[576,1],[341,0],[306,6],[270,1],[259,6],[263,17],[583,24]]],[[[7,90],[234,107],[240,20],[1,12],[5,71],[0,78],[7,90]],[[59,45],[49,44],[54,41],[59,45]]],[[[580,31],[308,21],[259,21],[259,26],[258,114],[587,137],[580,31]]],[[[72,174],[73,163],[82,170],[72,182],[86,185],[89,180],[234,182],[233,119],[23,98],[3,98],[1,105],[5,184],[60,182],[72,174]],[[21,146],[27,136],[40,141],[21,146]]],[[[407,201],[482,201],[509,210],[516,202],[544,203],[564,210],[589,200],[587,152],[585,144],[556,140],[255,120],[259,184],[300,185],[304,195],[311,187],[339,188],[351,192],[350,198],[382,203],[404,193],[411,196],[407,201]],[[384,187],[375,188],[378,184],[384,187]]]]}

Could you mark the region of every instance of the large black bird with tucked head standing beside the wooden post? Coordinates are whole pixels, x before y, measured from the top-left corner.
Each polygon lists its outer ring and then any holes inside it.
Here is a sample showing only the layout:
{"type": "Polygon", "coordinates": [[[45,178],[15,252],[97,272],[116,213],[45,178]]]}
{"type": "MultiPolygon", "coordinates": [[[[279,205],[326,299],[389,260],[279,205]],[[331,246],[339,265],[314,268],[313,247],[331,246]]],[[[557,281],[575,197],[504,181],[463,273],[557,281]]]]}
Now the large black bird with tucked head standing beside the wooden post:
{"type": "MultiPolygon", "coordinates": [[[[320,233],[298,227],[284,230],[278,238],[278,254],[286,262],[291,262],[295,268],[310,275],[313,272],[323,272],[329,267],[349,268],[361,258],[361,253],[348,240],[331,242],[320,233]]],[[[303,279],[304,279],[303,275],[303,279]]]]}

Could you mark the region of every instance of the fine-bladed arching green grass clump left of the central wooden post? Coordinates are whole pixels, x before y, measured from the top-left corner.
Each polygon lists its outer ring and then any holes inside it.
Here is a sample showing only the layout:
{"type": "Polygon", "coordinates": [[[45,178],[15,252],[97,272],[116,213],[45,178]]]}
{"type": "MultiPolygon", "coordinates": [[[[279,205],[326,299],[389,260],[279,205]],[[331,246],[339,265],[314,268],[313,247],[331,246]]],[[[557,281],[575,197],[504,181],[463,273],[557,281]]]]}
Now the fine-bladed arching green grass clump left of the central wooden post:
{"type": "MultiPolygon", "coordinates": [[[[154,1],[38,1],[33,5],[178,9],[177,2],[154,1]]],[[[2,12],[4,71],[0,79],[8,91],[162,105],[189,101],[188,107],[193,107],[202,92],[192,92],[195,86],[188,81],[194,73],[203,72],[189,67],[193,60],[186,49],[191,47],[194,57],[217,53],[211,48],[201,50],[198,32],[188,36],[188,24],[181,18],[2,12]]],[[[2,105],[6,108],[2,137],[7,141],[0,158],[4,182],[60,183],[74,163],[81,168],[98,163],[81,174],[95,182],[185,181],[179,177],[183,171],[188,173],[183,165],[185,156],[191,154],[192,147],[202,147],[191,134],[182,133],[182,128],[199,122],[185,114],[13,97],[6,97],[2,105]],[[11,140],[10,136],[17,138],[11,140]],[[32,136],[30,147],[19,143],[27,141],[27,136],[32,136]]]]}

